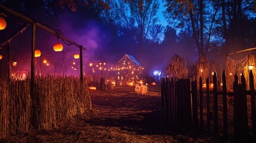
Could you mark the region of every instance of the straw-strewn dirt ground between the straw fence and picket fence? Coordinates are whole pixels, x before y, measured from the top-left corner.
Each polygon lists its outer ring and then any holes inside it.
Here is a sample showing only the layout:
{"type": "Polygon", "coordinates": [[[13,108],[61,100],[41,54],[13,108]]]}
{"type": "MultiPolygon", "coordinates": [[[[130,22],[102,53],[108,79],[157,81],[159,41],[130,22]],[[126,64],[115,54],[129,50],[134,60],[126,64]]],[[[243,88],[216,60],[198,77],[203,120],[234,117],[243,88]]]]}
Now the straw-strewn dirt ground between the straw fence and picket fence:
{"type": "Polygon", "coordinates": [[[162,122],[161,88],[147,95],[133,87],[90,92],[93,110],[58,123],[50,130],[30,130],[0,142],[232,142],[195,132],[171,131],[162,122]]]}

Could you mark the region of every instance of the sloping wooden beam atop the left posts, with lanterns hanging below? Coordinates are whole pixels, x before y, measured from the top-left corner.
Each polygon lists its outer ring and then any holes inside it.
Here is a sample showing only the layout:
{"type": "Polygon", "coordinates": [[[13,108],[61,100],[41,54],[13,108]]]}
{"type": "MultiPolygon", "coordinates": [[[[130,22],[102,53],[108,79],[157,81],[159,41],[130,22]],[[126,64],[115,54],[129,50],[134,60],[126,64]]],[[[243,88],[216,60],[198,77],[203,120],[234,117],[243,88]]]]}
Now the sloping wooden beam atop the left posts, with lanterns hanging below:
{"type": "Polygon", "coordinates": [[[7,11],[10,14],[16,15],[17,17],[27,21],[28,23],[35,23],[36,26],[41,27],[42,29],[47,30],[50,33],[53,33],[53,35],[58,36],[58,38],[63,39],[63,41],[72,43],[73,45],[77,46],[78,48],[82,48],[84,50],[86,50],[86,48],[84,48],[82,45],[79,45],[76,42],[70,41],[69,39],[67,39],[66,37],[60,35],[60,33],[54,29],[52,29],[50,26],[46,26],[45,24],[40,23],[39,21],[36,20],[32,20],[29,17],[26,17],[23,14],[17,13],[16,11],[10,10],[9,8],[5,7],[4,5],[0,4],[0,8],[2,8],[3,10],[7,11]]]}

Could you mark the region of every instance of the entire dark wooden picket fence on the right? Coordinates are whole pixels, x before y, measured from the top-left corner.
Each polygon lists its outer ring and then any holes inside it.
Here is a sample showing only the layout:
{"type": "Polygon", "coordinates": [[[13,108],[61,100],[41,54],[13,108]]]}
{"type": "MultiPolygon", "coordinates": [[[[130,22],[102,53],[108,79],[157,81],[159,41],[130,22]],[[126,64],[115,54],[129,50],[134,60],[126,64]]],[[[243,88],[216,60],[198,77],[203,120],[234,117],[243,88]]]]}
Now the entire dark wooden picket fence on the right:
{"type": "Polygon", "coordinates": [[[233,91],[227,91],[225,72],[221,78],[223,86],[218,89],[217,74],[214,73],[212,90],[209,90],[209,78],[205,81],[206,89],[203,89],[202,78],[199,79],[199,87],[196,80],[163,78],[161,91],[164,120],[174,129],[193,129],[197,132],[206,130],[214,133],[214,136],[223,136],[225,139],[234,136],[235,141],[256,142],[255,89],[252,71],[249,74],[249,90],[246,90],[243,75],[241,83],[238,83],[238,75],[235,75],[233,91]],[[228,108],[229,98],[233,98],[231,105],[233,107],[229,104],[228,108]],[[233,111],[230,111],[230,108],[233,108],[233,111]],[[233,132],[230,132],[231,128],[233,132]]]}

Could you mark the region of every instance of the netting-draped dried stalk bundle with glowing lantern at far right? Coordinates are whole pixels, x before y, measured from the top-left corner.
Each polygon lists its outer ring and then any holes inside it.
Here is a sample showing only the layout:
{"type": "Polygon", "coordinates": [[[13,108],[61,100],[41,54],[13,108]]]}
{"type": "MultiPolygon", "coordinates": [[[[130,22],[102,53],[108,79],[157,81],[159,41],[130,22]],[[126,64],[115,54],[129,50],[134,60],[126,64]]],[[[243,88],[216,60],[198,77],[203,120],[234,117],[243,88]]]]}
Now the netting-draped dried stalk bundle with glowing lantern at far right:
{"type": "MultiPolygon", "coordinates": [[[[246,79],[246,89],[249,89],[249,72],[252,70],[252,73],[256,75],[256,61],[255,55],[248,54],[242,60],[233,60],[230,57],[226,58],[226,79],[227,79],[227,89],[233,90],[233,80],[235,78],[235,74],[238,74],[238,80],[240,81],[240,77],[242,74],[246,79]]],[[[254,78],[254,85],[256,83],[256,79],[254,78]]],[[[256,86],[255,86],[256,88],[256,86]]]]}

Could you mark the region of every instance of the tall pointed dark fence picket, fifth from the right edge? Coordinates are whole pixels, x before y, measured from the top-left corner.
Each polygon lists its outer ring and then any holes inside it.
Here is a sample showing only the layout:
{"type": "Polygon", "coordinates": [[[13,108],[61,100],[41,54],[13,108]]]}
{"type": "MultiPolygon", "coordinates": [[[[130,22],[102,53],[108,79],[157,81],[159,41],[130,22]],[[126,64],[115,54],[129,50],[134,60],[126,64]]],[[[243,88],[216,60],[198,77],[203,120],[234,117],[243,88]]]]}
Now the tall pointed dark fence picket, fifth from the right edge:
{"type": "Polygon", "coordinates": [[[217,73],[214,71],[214,135],[218,136],[218,94],[217,94],[217,73]]]}

